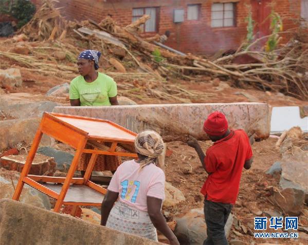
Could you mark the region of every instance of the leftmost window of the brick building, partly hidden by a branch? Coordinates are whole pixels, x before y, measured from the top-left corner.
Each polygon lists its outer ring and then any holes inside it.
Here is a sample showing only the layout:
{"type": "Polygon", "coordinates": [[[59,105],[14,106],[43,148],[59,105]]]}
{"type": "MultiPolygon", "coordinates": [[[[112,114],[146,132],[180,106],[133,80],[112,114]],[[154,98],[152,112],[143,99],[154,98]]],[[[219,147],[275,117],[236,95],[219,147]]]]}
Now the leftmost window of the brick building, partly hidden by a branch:
{"type": "Polygon", "coordinates": [[[134,8],[132,22],[138,20],[144,14],[150,15],[146,24],[142,25],[143,32],[157,32],[158,8],[134,8]]]}

